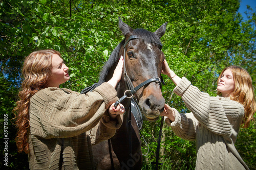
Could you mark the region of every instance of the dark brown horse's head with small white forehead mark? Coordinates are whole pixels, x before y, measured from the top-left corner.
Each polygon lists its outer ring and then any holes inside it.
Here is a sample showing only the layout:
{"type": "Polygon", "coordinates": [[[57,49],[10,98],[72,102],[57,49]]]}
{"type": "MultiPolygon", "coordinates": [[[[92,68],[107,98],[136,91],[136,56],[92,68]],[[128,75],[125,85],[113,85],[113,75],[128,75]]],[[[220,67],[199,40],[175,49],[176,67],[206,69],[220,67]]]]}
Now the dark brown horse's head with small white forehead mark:
{"type": "MultiPolygon", "coordinates": [[[[165,22],[154,33],[144,29],[132,29],[119,18],[119,29],[125,39],[119,44],[118,56],[124,57],[127,76],[130,82],[136,87],[142,82],[161,77],[162,62],[164,54],[161,51],[160,38],[164,35],[167,22],[165,22]]],[[[122,79],[120,83],[124,84],[122,79]]],[[[125,89],[120,86],[120,90],[125,89]]],[[[138,105],[144,119],[154,122],[158,120],[164,109],[165,99],[161,92],[161,82],[152,82],[136,93],[138,105]]]]}

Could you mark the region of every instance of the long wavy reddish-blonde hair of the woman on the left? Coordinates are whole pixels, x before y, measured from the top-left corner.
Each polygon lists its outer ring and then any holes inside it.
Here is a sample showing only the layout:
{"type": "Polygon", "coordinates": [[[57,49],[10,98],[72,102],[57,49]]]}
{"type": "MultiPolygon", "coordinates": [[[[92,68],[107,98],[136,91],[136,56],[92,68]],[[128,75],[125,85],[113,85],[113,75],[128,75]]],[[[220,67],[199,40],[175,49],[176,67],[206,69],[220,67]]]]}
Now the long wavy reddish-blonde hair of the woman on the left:
{"type": "Polygon", "coordinates": [[[28,133],[30,128],[30,98],[40,89],[47,87],[52,71],[52,56],[60,53],[48,49],[31,53],[24,61],[22,74],[24,81],[18,93],[19,101],[13,109],[17,136],[15,138],[18,152],[29,153],[28,133]],[[15,114],[16,113],[16,114],[15,114]]]}

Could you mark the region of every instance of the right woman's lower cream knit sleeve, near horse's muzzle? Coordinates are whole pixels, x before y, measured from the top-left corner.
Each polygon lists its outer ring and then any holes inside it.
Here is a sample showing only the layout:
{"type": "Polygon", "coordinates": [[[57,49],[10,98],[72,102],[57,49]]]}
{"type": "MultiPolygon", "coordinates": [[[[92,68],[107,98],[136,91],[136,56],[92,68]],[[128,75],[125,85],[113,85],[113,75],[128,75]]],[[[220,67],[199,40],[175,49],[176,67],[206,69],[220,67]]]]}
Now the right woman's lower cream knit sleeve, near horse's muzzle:
{"type": "Polygon", "coordinates": [[[174,133],[182,139],[194,141],[196,140],[196,127],[198,121],[193,113],[182,114],[175,108],[172,108],[175,112],[175,121],[172,122],[168,117],[165,118],[165,124],[172,128],[174,133]]]}

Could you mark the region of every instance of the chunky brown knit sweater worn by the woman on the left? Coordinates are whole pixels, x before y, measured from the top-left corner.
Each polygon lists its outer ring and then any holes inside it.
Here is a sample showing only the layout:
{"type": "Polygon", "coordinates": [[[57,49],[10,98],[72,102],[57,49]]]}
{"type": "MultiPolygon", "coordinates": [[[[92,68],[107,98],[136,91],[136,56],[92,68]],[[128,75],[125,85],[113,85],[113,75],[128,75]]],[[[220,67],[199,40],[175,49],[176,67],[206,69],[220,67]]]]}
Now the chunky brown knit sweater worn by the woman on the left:
{"type": "Polygon", "coordinates": [[[30,100],[30,169],[94,169],[91,144],[111,138],[122,115],[111,120],[106,109],[116,90],[103,83],[80,94],[49,87],[30,100]]]}

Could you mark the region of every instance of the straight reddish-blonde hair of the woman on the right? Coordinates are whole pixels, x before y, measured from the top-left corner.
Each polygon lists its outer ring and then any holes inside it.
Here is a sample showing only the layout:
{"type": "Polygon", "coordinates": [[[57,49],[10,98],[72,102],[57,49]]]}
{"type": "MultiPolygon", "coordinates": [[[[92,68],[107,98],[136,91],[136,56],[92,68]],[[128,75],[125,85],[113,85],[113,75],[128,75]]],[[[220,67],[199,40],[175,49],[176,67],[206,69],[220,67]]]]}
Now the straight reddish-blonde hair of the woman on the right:
{"type": "MultiPolygon", "coordinates": [[[[230,99],[237,101],[244,106],[245,114],[241,124],[242,128],[248,128],[250,121],[254,120],[253,114],[256,112],[255,94],[253,92],[252,80],[248,71],[239,66],[228,66],[224,68],[218,78],[218,82],[227,69],[230,69],[234,79],[234,90],[230,94],[230,99]]],[[[217,92],[221,94],[221,92],[217,92]]]]}

